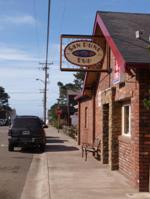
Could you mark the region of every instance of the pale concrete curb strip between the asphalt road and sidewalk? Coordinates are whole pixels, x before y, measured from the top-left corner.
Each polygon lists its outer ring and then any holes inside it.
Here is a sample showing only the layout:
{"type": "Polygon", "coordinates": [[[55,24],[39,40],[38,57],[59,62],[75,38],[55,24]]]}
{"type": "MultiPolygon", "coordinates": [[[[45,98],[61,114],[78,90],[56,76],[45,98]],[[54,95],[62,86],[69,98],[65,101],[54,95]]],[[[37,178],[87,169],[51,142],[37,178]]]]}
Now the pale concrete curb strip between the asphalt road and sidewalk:
{"type": "Polygon", "coordinates": [[[49,180],[47,155],[36,154],[27,174],[27,179],[20,199],[49,199],[49,180]]]}

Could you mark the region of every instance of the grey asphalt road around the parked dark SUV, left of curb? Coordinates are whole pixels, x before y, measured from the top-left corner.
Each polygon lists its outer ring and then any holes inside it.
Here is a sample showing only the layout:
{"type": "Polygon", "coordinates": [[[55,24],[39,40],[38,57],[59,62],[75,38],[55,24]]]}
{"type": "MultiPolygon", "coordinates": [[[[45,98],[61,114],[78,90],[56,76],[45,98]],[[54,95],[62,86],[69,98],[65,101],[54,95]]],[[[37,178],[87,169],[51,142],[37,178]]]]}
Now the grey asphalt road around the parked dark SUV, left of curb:
{"type": "Polygon", "coordinates": [[[33,153],[8,151],[8,127],[0,127],[0,199],[20,199],[33,153]]]}

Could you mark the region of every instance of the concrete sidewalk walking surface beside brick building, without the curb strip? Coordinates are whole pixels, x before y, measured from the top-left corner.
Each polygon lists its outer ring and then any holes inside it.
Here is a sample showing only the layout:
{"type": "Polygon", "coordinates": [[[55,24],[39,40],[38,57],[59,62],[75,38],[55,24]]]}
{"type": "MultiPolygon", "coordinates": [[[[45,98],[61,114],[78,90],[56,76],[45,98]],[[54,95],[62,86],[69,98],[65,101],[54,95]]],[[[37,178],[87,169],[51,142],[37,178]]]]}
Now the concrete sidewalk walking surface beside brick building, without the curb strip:
{"type": "Polygon", "coordinates": [[[136,193],[126,178],[91,154],[84,161],[76,142],[61,131],[49,127],[47,136],[50,199],[150,198],[149,193],[136,193]]]}

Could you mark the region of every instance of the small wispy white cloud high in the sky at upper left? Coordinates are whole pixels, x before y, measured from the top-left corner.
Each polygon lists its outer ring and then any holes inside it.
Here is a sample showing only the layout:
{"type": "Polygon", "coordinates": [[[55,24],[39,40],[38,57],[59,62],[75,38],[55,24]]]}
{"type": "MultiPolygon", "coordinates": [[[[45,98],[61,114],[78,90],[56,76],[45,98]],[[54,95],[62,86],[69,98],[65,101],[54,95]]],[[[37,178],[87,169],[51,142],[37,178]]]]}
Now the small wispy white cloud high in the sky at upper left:
{"type": "Polygon", "coordinates": [[[3,15],[0,17],[1,23],[6,24],[15,24],[15,25],[34,25],[36,20],[31,15],[22,15],[22,16],[6,16],[3,15]]]}

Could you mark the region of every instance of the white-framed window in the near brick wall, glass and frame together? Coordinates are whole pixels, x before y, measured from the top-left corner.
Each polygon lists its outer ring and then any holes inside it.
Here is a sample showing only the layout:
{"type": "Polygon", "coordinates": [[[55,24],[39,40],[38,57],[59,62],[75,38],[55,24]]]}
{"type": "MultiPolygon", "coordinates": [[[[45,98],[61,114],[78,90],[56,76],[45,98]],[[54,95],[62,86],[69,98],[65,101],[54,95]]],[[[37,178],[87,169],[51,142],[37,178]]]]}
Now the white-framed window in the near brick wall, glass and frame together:
{"type": "Polygon", "coordinates": [[[131,135],[131,106],[126,104],[122,107],[122,134],[131,135]]]}

